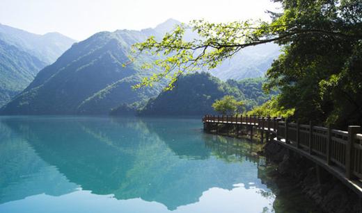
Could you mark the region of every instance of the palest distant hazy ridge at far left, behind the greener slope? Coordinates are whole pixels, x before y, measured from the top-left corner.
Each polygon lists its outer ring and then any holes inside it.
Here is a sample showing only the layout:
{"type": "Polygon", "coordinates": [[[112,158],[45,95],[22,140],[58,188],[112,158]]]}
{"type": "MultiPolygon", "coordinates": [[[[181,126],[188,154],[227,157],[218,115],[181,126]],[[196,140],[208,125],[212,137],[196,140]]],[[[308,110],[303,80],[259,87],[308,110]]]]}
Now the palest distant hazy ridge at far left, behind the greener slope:
{"type": "Polygon", "coordinates": [[[37,35],[3,24],[0,24],[0,40],[36,56],[47,65],[55,62],[74,42],[77,42],[60,33],[37,35]]]}

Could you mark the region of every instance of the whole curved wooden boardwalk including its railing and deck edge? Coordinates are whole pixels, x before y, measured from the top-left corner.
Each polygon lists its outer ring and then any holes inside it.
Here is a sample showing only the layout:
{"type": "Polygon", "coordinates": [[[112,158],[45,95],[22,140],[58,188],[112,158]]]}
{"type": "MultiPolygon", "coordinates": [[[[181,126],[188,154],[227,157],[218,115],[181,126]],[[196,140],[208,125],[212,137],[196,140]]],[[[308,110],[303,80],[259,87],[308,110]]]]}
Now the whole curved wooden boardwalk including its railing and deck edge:
{"type": "MultiPolygon", "coordinates": [[[[254,126],[272,135],[272,142],[299,153],[317,165],[317,177],[329,171],[362,198],[362,134],[361,126],[349,126],[348,131],[290,123],[281,117],[233,117],[205,115],[204,129],[218,123],[254,126]]],[[[268,138],[268,137],[267,137],[268,138]]]]}

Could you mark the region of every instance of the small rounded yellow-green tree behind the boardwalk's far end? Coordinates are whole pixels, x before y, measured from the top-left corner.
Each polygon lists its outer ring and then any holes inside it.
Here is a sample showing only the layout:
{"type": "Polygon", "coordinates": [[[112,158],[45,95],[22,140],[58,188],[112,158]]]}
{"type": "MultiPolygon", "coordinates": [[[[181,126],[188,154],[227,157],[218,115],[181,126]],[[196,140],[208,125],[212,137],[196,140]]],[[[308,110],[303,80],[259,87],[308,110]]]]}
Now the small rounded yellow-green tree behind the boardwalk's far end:
{"type": "Polygon", "coordinates": [[[244,108],[244,101],[236,101],[234,96],[223,96],[223,98],[219,101],[215,100],[215,103],[212,104],[212,108],[219,114],[241,114],[244,108]]]}

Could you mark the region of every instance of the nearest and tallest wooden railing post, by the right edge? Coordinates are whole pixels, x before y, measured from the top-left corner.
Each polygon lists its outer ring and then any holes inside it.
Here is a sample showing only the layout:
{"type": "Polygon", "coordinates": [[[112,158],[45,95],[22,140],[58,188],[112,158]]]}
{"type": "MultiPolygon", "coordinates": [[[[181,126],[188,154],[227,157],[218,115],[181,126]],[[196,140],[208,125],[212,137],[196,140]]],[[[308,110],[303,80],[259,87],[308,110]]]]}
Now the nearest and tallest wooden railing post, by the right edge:
{"type": "Polygon", "coordinates": [[[354,137],[357,133],[361,133],[361,126],[348,126],[348,142],[346,149],[346,178],[348,180],[356,179],[354,176],[354,137]]]}

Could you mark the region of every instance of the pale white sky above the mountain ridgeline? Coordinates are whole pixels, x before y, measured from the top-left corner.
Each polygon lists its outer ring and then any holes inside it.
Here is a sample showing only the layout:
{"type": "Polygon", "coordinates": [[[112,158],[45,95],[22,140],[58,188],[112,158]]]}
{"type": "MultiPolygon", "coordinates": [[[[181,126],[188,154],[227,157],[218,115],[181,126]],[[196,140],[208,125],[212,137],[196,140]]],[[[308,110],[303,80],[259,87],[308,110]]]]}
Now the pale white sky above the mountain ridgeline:
{"type": "Polygon", "coordinates": [[[269,20],[270,0],[0,0],[0,24],[85,40],[100,31],[155,28],[167,19],[189,23],[269,20]]]}

